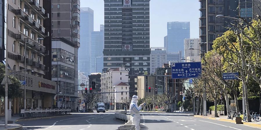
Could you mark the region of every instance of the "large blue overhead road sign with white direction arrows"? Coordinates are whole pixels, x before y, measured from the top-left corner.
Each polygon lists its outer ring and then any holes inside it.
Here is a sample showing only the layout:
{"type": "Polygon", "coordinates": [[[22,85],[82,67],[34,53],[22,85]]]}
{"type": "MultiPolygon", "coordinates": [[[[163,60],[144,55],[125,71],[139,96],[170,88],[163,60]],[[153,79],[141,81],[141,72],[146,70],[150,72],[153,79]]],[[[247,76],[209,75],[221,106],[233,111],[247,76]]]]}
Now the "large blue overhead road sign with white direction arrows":
{"type": "Polygon", "coordinates": [[[172,79],[200,78],[201,62],[171,63],[172,79]]]}

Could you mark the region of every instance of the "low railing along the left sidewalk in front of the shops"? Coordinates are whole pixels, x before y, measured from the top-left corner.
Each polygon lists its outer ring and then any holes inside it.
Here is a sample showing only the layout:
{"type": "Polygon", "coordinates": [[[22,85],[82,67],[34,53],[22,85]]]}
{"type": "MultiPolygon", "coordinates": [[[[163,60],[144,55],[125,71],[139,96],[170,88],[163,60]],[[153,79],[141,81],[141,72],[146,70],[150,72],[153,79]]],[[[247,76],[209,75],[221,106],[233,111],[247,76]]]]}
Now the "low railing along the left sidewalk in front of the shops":
{"type": "Polygon", "coordinates": [[[48,116],[62,116],[70,114],[71,109],[21,109],[23,118],[38,118],[48,116]]]}

